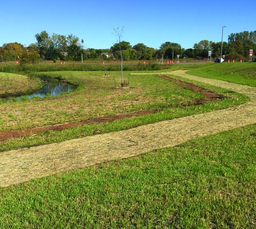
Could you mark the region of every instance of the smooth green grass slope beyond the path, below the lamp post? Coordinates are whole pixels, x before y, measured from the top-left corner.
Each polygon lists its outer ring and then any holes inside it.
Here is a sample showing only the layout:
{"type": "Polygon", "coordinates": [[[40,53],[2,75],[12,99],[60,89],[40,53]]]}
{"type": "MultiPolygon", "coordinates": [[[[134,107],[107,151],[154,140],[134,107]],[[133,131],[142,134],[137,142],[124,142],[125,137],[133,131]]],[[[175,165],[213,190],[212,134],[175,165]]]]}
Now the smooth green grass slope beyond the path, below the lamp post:
{"type": "Polygon", "coordinates": [[[255,63],[216,63],[200,66],[200,68],[192,69],[188,74],[215,78],[216,80],[224,80],[256,86],[256,64],[255,63]]]}

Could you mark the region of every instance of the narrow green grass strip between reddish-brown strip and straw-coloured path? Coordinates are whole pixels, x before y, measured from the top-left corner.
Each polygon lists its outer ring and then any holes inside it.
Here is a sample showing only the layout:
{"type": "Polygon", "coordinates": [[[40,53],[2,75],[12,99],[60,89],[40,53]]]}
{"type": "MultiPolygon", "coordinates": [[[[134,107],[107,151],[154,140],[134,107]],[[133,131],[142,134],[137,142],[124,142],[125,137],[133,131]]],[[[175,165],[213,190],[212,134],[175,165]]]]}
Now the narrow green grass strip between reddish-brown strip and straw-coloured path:
{"type": "MultiPolygon", "coordinates": [[[[50,76],[50,75],[48,75],[48,76],[50,76]]],[[[149,77],[149,76],[145,76],[145,77],[149,77]]],[[[156,78],[154,76],[151,76],[151,77],[152,77],[151,78],[152,80],[157,80],[157,81],[159,80],[159,78],[156,78]]],[[[172,76],[172,77],[174,77],[174,76],[172,76]]],[[[70,78],[72,78],[72,75],[70,75],[70,78]]],[[[135,78],[136,78],[136,76],[135,76],[135,78]]],[[[179,80],[191,82],[190,80],[181,79],[179,77],[174,77],[174,78],[178,78],[179,80]]],[[[133,81],[131,81],[131,82],[133,82],[133,81]]],[[[153,81],[153,82],[155,84],[155,81],[153,81]]],[[[163,81],[163,83],[165,84],[165,86],[167,86],[169,84],[169,81],[163,81]]],[[[55,143],[55,142],[70,140],[70,139],[74,139],[74,138],[78,138],[78,137],[97,135],[100,133],[121,131],[124,129],[138,127],[140,125],[156,123],[158,121],[171,120],[171,119],[175,119],[175,118],[179,118],[179,117],[195,115],[198,113],[205,113],[205,112],[209,112],[211,110],[216,110],[216,109],[224,109],[224,108],[227,108],[230,106],[242,104],[248,100],[248,98],[246,96],[243,96],[243,95],[235,93],[235,92],[231,92],[229,90],[216,88],[215,86],[210,86],[210,85],[202,84],[199,82],[193,82],[193,83],[201,86],[202,88],[212,90],[219,94],[222,94],[222,96],[224,96],[225,99],[221,100],[221,101],[207,102],[206,104],[197,105],[197,106],[179,106],[178,105],[178,106],[173,106],[171,108],[167,108],[166,106],[159,106],[159,108],[161,108],[161,111],[157,112],[153,115],[144,115],[144,116],[140,116],[140,117],[133,117],[130,119],[116,120],[116,121],[99,124],[99,125],[83,125],[82,127],[74,127],[74,128],[70,128],[70,129],[65,129],[63,131],[46,131],[46,132],[39,133],[37,135],[18,137],[16,139],[2,141],[0,144],[0,152],[7,151],[10,149],[19,148],[19,147],[31,147],[34,145],[55,143]]],[[[126,89],[124,89],[124,90],[126,90],[126,89]]],[[[160,92],[157,92],[155,89],[153,89],[152,93],[159,94],[160,92]]],[[[168,96],[171,96],[171,94],[169,94],[169,93],[172,93],[172,92],[166,92],[166,90],[164,90],[163,93],[167,94],[168,96]]],[[[129,96],[131,96],[131,95],[125,93],[121,97],[119,96],[119,99],[117,101],[118,102],[120,102],[119,100],[121,100],[121,101],[128,100],[129,101],[132,99],[129,96]]],[[[78,100],[78,98],[79,97],[76,97],[76,100],[78,100]]],[[[22,104],[22,102],[20,104],[22,104]]],[[[38,102],[38,104],[40,104],[40,103],[38,102]]],[[[152,107],[153,107],[153,105],[155,108],[155,103],[152,104],[152,107]]],[[[23,111],[25,111],[25,110],[26,109],[24,108],[23,111]]],[[[9,119],[14,120],[15,116],[11,116],[12,114],[13,113],[9,113],[9,119]]],[[[49,116],[49,119],[51,119],[51,118],[52,118],[52,116],[49,116]]],[[[1,120],[0,120],[0,124],[1,124],[1,120]]]]}

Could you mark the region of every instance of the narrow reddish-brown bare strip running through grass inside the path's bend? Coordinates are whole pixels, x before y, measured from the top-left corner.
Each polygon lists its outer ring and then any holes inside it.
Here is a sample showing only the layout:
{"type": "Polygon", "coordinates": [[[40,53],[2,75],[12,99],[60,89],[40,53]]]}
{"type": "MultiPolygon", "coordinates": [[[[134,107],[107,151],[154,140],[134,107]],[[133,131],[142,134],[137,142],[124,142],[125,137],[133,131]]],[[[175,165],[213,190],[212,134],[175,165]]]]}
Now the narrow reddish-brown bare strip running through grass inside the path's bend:
{"type": "MultiPolygon", "coordinates": [[[[200,92],[205,96],[205,98],[202,100],[195,100],[195,101],[191,102],[190,104],[182,104],[182,106],[200,105],[200,104],[204,104],[208,101],[215,101],[215,100],[222,99],[222,96],[220,96],[219,94],[216,94],[215,92],[211,92],[209,90],[204,90],[203,88],[200,88],[199,86],[196,86],[194,84],[182,82],[182,81],[176,80],[174,78],[165,76],[163,74],[159,75],[159,77],[163,78],[164,80],[175,82],[175,84],[179,84],[180,86],[183,86],[185,88],[190,88],[192,90],[195,90],[196,92],[200,92]]],[[[94,119],[76,121],[76,122],[72,122],[72,123],[46,125],[43,127],[35,127],[35,128],[22,129],[22,130],[17,130],[17,131],[3,131],[3,132],[0,132],[0,141],[13,139],[15,137],[23,137],[23,136],[27,136],[27,135],[33,135],[33,134],[41,133],[44,131],[61,131],[62,129],[78,127],[81,125],[101,124],[101,123],[106,123],[109,121],[114,121],[114,120],[119,120],[119,119],[128,119],[131,117],[138,117],[138,116],[142,116],[142,115],[151,115],[151,114],[159,112],[159,111],[160,110],[138,110],[138,111],[132,112],[132,113],[121,113],[118,115],[96,117],[94,119]]]]}

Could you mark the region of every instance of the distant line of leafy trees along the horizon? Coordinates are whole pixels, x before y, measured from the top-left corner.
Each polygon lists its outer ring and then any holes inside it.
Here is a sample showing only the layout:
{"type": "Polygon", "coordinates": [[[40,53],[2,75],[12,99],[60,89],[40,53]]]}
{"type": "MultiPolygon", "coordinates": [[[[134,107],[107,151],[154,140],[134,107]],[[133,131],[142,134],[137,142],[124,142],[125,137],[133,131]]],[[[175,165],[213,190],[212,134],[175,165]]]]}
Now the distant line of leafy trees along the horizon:
{"type": "MultiPolygon", "coordinates": [[[[194,44],[193,48],[184,49],[175,42],[164,42],[159,49],[150,48],[143,43],[132,46],[128,41],[117,42],[109,49],[84,49],[84,40],[76,35],[60,35],[41,31],[35,35],[37,42],[25,47],[17,42],[3,44],[0,47],[0,61],[21,61],[36,63],[39,60],[50,61],[81,61],[81,56],[86,59],[120,59],[123,60],[153,60],[172,59],[180,55],[180,58],[188,57],[203,60],[208,57],[208,51],[212,51],[212,57],[220,57],[221,42],[202,40],[194,44]],[[121,50],[121,51],[120,51],[121,50]]],[[[223,42],[223,54],[230,60],[248,60],[249,50],[256,51],[256,31],[243,31],[231,33],[228,42],[223,42]]],[[[253,56],[255,59],[255,56],[253,56]]]]}

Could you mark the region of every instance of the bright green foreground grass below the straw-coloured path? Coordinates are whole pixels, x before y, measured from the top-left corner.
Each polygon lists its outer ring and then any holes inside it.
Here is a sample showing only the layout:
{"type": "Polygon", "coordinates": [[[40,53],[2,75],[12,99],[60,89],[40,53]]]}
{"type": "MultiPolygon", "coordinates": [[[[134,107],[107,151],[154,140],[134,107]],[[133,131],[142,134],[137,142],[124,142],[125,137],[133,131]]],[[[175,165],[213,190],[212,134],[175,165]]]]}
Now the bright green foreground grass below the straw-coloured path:
{"type": "Polygon", "coordinates": [[[0,228],[255,228],[256,125],[0,189],[0,228]]]}

